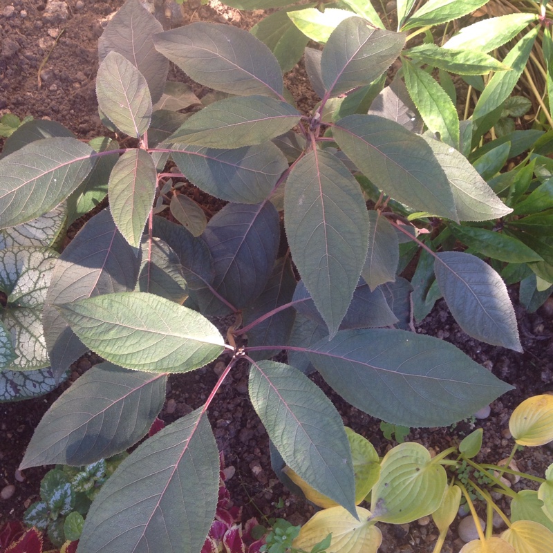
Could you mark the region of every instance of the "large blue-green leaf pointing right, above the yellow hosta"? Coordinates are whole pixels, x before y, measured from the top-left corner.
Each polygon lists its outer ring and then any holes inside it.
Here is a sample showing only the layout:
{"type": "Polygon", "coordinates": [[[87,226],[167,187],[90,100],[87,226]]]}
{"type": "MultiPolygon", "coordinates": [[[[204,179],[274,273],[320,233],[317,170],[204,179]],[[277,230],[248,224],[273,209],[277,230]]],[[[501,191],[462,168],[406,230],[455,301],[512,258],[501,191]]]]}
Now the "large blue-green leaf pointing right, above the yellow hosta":
{"type": "Polygon", "coordinates": [[[447,426],[512,389],[455,346],[404,330],[342,330],[306,352],[344,400],[408,427],[447,426]]]}

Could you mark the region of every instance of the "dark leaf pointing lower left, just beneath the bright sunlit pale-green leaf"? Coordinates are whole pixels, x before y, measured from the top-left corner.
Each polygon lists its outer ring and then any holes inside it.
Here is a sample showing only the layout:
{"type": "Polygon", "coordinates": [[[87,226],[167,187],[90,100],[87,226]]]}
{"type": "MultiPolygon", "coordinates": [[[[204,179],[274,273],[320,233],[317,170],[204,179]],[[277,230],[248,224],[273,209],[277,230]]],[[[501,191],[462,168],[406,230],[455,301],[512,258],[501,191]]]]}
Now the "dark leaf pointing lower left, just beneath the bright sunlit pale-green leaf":
{"type": "Polygon", "coordinates": [[[50,406],[20,468],[89,465],[125,451],[147,434],[161,411],[166,382],[163,374],[111,363],[93,366],[50,406]]]}

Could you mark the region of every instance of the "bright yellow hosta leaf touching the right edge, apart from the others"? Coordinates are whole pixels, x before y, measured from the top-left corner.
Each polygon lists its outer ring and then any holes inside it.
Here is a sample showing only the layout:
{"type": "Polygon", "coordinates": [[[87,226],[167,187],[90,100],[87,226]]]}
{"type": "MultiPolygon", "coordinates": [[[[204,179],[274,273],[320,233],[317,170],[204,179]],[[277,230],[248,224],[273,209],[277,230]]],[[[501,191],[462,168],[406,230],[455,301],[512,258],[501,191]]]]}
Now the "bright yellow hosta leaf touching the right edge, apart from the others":
{"type": "Polygon", "coordinates": [[[511,415],[509,431],[519,445],[537,446],[553,440],[553,395],[534,395],[511,415]]]}

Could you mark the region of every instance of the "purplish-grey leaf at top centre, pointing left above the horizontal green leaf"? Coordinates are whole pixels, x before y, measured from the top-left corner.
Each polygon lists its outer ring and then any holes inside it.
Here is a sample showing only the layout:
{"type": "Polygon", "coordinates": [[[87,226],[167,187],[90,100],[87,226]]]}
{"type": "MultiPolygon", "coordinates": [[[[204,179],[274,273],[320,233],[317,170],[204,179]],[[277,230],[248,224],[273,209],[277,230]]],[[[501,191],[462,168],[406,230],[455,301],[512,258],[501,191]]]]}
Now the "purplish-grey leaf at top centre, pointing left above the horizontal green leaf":
{"type": "Polygon", "coordinates": [[[196,82],[238,95],[282,98],[282,72],[271,50],[246,30],[198,21],[153,37],[160,53],[196,82]]]}

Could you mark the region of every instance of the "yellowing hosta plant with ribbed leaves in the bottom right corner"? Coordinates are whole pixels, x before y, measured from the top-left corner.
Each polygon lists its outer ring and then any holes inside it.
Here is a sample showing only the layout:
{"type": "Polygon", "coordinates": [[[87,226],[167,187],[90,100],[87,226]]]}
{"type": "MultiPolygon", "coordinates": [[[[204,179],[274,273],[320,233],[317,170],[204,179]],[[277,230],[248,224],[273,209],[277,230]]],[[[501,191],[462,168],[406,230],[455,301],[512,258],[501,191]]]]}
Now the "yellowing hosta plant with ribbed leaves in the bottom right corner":
{"type": "Polygon", "coordinates": [[[439,553],[464,500],[474,518],[478,539],[467,543],[460,553],[550,552],[553,549],[553,465],[545,472],[545,478],[538,478],[518,471],[513,458],[518,447],[550,442],[552,422],[552,395],[529,397],[521,403],[509,420],[509,430],[516,443],[511,455],[497,465],[474,460],[482,447],[482,429],[469,434],[458,447],[450,447],[434,457],[421,444],[404,442],[382,459],[371,442],[349,431],[358,492],[356,503],[366,500],[370,510],[357,507],[356,520],[344,507],[292,475],[306,497],[324,507],[301,528],[292,545],[308,550],[332,532],[326,546],[328,553],[376,553],[382,543],[377,523],[404,524],[431,515],[439,532],[433,552],[439,553]],[[514,491],[512,484],[521,478],[538,482],[538,490],[519,485],[519,491],[514,491]],[[510,516],[494,500],[496,494],[510,500],[510,516]],[[474,503],[476,496],[486,505],[484,529],[474,503]],[[498,536],[491,534],[494,513],[507,527],[498,536]]]}

